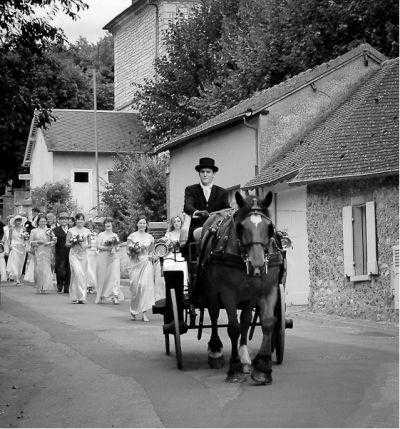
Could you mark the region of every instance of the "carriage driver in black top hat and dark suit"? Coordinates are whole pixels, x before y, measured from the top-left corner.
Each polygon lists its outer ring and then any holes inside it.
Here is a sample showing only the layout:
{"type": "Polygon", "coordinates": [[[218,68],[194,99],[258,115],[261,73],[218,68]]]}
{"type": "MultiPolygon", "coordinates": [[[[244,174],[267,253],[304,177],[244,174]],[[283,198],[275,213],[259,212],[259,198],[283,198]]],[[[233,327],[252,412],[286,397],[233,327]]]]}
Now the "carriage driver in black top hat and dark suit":
{"type": "Polygon", "coordinates": [[[211,212],[229,208],[228,192],[214,185],[214,176],[218,171],[212,158],[200,158],[195,170],[199,173],[200,183],[185,189],[183,211],[191,216],[188,243],[194,241],[193,231],[202,227],[211,212]]]}

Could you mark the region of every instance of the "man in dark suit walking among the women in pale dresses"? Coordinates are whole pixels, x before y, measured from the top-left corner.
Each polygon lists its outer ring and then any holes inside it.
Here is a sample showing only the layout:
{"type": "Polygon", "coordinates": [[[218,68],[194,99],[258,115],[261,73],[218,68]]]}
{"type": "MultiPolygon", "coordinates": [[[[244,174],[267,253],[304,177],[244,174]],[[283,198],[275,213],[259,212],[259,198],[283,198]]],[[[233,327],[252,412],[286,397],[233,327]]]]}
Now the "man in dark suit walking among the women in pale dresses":
{"type": "Polygon", "coordinates": [[[57,238],[54,248],[55,272],[57,279],[57,291],[69,292],[70,267],[69,267],[69,247],[65,245],[68,232],[68,213],[62,212],[59,215],[59,226],[55,226],[53,233],[57,238]]]}

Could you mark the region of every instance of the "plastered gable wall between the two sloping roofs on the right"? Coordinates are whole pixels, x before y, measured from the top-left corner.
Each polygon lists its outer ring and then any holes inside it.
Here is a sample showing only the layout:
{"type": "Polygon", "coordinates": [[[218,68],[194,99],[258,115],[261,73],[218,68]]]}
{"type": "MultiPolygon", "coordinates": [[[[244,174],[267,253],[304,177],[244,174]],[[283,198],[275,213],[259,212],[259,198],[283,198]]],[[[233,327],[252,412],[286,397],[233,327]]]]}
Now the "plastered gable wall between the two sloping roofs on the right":
{"type": "Polygon", "coordinates": [[[318,79],[316,91],[308,85],[268,107],[269,114],[260,117],[261,165],[290,139],[300,138],[311,124],[354,89],[363,76],[377,68],[379,65],[371,59],[365,66],[362,57],[355,58],[318,79]]]}

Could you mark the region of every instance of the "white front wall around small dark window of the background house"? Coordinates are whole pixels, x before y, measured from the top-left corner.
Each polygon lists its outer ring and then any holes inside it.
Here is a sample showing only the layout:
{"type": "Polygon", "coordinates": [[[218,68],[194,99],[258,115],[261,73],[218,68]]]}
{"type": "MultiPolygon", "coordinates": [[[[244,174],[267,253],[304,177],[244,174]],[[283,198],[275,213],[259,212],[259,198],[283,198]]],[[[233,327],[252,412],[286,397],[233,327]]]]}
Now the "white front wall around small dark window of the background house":
{"type": "MultiPolygon", "coordinates": [[[[113,165],[112,154],[99,154],[100,192],[104,189],[104,186],[107,183],[108,171],[112,170],[113,165]]],[[[85,204],[94,207],[96,205],[96,163],[94,153],[54,152],[54,181],[67,180],[68,183],[73,185],[73,171],[77,170],[91,171],[91,201],[81,201],[77,194],[74,195],[74,188],[72,187],[73,195],[77,199],[77,203],[80,207],[85,207],[85,204]]],[[[87,210],[84,211],[86,212],[87,210]]]]}

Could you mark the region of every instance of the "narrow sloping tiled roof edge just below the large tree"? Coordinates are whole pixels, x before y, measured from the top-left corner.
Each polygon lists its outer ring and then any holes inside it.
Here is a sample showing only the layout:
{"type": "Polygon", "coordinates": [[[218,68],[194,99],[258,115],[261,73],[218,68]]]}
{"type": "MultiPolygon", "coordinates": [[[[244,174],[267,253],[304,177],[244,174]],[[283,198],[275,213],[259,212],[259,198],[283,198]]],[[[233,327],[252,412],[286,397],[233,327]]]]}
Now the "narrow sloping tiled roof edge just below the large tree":
{"type": "Polygon", "coordinates": [[[382,62],[386,59],[384,55],[382,55],[369,44],[361,44],[356,48],[352,49],[351,51],[346,52],[345,54],[336,57],[329,62],[323,63],[312,69],[308,69],[271,88],[256,92],[252,97],[241,101],[239,104],[236,104],[225,112],[209,119],[208,121],[202,123],[201,125],[198,125],[197,127],[194,127],[184,132],[183,134],[170,140],[169,142],[160,145],[156,151],[161,152],[163,150],[171,149],[175,146],[182,145],[185,142],[188,142],[191,139],[200,135],[207,134],[216,129],[223,128],[229,124],[241,121],[243,115],[249,109],[251,109],[253,115],[255,115],[269,105],[274,104],[276,101],[292,93],[293,91],[296,91],[302,88],[304,85],[308,85],[311,82],[319,79],[323,75],[332,72],[333,70],[350,61],[351,59],[363,55],[374,58],[378,62],[382,62]]]}

